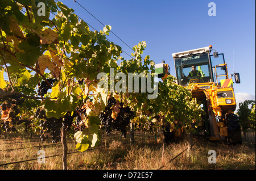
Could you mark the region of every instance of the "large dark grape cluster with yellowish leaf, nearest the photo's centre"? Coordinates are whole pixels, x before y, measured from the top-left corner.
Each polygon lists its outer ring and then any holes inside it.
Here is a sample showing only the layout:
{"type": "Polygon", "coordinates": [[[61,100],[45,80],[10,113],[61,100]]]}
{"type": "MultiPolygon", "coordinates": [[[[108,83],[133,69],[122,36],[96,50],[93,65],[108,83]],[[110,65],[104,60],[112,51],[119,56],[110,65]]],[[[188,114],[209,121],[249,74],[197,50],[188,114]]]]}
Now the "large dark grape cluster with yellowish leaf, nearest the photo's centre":
{"type": "Polygon", "coordinates": [[[105,129],[106,133],[110,134],[113,130],[120,131],[122,136],[126,137],[126,128],[130,124],[130,119],[134,117],[133,111],[130,107],[123,107],[123,103],[119,103],[119,112],[117,117],[112,116],[113,106],[117,104],[115,98],[110,98],[108,100],[108,105],[106,106],[104,112],[100,113],[100,120],[102,128],[105,129]]]}

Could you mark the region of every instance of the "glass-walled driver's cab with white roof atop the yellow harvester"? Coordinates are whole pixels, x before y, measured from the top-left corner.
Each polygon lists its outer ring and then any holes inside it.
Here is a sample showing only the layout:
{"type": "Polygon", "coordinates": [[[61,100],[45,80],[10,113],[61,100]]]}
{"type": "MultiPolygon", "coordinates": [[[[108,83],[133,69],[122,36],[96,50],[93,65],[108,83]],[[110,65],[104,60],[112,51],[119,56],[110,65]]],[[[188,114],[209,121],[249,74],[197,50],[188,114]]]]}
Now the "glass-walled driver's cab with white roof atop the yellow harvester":
{"type": "Polygon", "coordinates": [[[214,82],[221,86],[228,79],[228,68],[224,54],[214,52],[210,55],[212,46],[172,53],[175,62],[177,83],[188,86],[189,83],[214,82]]]}

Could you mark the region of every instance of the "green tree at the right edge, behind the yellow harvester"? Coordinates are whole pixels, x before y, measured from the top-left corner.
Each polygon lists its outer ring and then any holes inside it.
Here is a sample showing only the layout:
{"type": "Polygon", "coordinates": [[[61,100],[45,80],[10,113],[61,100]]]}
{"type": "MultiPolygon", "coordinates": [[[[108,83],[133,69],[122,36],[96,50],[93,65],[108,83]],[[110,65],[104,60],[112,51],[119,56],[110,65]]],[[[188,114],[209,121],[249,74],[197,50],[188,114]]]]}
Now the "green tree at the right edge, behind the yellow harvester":
{"type": "Polygon", "coordinates": [[[245,100],[243,103],[239,103],[239,109],[237,115],[240,119],[240,125],[242,127],[243,136],[246,137],[247,129],[255,129],[255,100],[245,100]],[[251,105],[251,108],[249,106],[251,105]],[[254,113],[253,113],[254,107],[254,113]],[[254,119],[253,119],[254,116],[254,119]]]}

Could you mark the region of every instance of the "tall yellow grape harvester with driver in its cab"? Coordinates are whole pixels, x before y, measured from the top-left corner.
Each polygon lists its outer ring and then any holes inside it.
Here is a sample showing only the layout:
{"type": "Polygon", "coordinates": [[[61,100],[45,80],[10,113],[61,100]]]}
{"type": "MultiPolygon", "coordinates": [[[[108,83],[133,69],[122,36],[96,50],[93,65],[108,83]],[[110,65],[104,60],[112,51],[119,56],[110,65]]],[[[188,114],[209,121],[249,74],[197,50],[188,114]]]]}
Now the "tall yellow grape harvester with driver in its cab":
{"type": "MultiPolygon", "coordinates": [[[[214,50],[212,45],[184,52],[172,53],[176,70],[176,83],[191,90],[192,97],[201,103],[205,111],[201,127],[204,136],[210,140],[226,140],[242,143],[241,128],[236,110],[236,98],[233,89],[233,75],[240,83],[240,74],[228,74],[224,54],[214,50]]],[[[156,72],[164,79],[170,74],[167,64],[157,64],[156,72]]]]}

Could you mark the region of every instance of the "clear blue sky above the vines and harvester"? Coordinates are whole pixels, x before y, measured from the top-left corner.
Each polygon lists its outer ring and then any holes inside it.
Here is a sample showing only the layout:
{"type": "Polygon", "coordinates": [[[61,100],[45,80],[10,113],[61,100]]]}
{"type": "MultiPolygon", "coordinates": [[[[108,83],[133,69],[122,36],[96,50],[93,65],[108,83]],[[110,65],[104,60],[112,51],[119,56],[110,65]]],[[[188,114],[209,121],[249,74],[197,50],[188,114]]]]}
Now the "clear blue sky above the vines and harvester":
{"type": "MultiPolygon", "coordinates": [[[[73,0],[61,1],[85,22],[100,31],[103,26],[73,0]]],[[[129,47],[146,41],[143,57],[156,64],[165,60],[175,74],[171,54],[212,45],[224,53],[229,74],[238,72],[241,83],[234,84],[238,102],[255,100],[255,1],[226,0],[77,0],[129,47]],[[208,4],[216,4],[216,16],[209,16],[208,4]],[[234,61],[233,61],[234,60],[234,61]]],[[[92,28],[91,28],[92,30],[92,28]]],[[[128,54],[131,49],[112,33],[110,41],[128,54]]],[[[123,57],[130,59],[125,53],[123,57]]]]}

